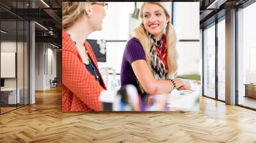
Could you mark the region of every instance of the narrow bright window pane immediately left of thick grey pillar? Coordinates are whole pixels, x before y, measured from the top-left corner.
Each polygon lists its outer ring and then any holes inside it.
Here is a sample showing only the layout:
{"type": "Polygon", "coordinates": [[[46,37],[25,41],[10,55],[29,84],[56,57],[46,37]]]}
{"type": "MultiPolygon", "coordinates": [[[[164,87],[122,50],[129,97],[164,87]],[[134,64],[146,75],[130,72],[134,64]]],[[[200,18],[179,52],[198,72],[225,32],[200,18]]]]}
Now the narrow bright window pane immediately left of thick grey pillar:
{"type": "Polygon", "coordinates": [[[218,99],[225,101],[225,19],[218,23],[218,99]]]}

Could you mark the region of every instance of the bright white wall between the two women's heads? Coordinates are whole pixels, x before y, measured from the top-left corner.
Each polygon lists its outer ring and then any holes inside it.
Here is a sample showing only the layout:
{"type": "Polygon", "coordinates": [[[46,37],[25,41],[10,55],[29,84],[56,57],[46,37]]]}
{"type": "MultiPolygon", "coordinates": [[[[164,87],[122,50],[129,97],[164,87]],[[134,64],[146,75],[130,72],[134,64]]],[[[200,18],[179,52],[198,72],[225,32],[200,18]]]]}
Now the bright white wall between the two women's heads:
{"type": "MultiPolygon", "coordinates": [[[[109,2],[108,4],[102,31],[93,32],[88,39],[128,40],[129,14],[134,10],[134,2],[109,2]]],[[[106,43],[106,62],[99,62],[99,68],[109,67],[120,73],[125,45],[126,42],[106,43]]]]}

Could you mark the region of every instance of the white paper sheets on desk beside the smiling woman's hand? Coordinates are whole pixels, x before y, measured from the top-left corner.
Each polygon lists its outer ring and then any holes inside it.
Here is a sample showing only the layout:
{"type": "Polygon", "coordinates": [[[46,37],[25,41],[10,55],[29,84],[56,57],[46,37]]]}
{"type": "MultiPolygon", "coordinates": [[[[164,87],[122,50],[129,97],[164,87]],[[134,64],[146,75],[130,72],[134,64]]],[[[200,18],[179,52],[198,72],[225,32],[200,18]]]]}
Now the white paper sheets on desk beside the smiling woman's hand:
{"type": "Polygon", "coordinates": [[[168,97],[167,107],[170,110],[199,110],[199,96],[201,94],[201,87],[198,86],[190,94],[183,95],[182,91],[173,89],[168,97]],[[195,109],[195,107],[198,107],[195,109]]]}

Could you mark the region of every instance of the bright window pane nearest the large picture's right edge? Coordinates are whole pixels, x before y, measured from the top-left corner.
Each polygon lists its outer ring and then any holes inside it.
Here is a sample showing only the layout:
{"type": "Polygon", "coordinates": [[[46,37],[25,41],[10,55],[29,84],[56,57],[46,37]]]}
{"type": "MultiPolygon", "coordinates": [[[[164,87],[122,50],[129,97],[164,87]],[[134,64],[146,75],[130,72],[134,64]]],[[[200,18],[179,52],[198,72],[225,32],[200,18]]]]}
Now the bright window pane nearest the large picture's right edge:
{"type": "Polygon", "coordinates": [[[204,95],[215,98],[215,26],[204,30],[204,95]]]}

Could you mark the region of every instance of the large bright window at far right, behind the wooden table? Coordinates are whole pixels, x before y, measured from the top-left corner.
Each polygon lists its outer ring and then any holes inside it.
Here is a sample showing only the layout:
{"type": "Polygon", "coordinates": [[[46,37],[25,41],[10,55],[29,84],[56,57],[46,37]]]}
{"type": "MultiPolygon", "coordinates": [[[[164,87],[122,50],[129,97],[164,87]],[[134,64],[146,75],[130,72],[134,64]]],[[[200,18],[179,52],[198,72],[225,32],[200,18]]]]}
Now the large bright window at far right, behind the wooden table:
{"type": "Polygon", "coordinates": [[[256,3],[237,11],[237,87],[238,104],[256,109],[256,3]],[[246,85],[247,84],[247,85],[246,85]],[[245,97],[244,97],[245,96],[245,97]]]}

